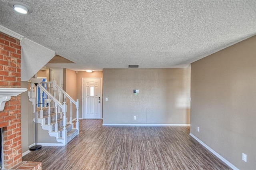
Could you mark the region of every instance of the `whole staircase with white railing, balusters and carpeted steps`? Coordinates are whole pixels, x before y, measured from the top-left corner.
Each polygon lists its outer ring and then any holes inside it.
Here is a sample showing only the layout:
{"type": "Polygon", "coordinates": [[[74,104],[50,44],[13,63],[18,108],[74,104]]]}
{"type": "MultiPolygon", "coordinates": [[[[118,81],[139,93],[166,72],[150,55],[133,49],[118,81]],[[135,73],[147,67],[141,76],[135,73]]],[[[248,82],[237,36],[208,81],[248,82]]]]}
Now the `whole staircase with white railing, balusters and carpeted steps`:
{"type": "MultiPolygon", "coordinates": [[[[38,79],[33,79],[33,81],[38,81],[38,79]]],[[[40,89],[40,94],[36,94],[38,90],[34,91],[34,83],[32,82],[30,82],[30,91],[28,91],[29,100],[34,108],[33,121],[40,123],[43,130],[48,130],[49,136],[54,136],[57,142],[61,142],[62,146],[65,146],[79,134],[79,101],[72,99],[68,93],[56,85],[56,79],[52,82],[35,84],[40,89]],[[53,94],[50,93],[51,91],[53,94]],[[56,99],[56,93],[58,93],[59,99],[56,99]],[[60,97],[61,95],[62,97],[60,97]],[[37,96],[40,96],[40,99],[37,99],[37,96]],[[66,98],[70,101],[70,111],[67,111],[66,98]],[[64,101],[60,101],[61,99],[64,101]],[[73,115],[72,107],[76,109],[73,115]],[[69,122],[66,115],[69,116],[69,122]],[[76,121],[75,126],[73,121],[76,121]]]]}

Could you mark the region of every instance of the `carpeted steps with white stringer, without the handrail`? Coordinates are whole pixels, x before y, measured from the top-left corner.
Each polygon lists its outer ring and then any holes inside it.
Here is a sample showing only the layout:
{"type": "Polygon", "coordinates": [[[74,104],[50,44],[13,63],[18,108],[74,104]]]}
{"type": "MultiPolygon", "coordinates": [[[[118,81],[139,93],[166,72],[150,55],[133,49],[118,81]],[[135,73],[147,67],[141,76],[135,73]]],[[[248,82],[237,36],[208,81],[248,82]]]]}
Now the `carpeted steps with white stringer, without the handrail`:
{"type": "MultiPolygon", "coordinates": [[[[63,130],[63,119],[62,113],[57,113],[57,130],[56,130],[56,113],[54,111],[54,107],[50,108],[50,125],[48,125],[48,108],[42,108],[43,118],[41,117],[40,108],[37,109],[37,123],[41,124],[42,129],[48,130],[49,136],[53,136],[56,138],[57,142],[61,142],[64,144],[64,138],[62,138],[62,130],[63,130]]],[[[33,119],[35,122],[35,119],[33,119]]],[[[78,130],[74,129],[73,123],[66,123],[67,130],[67,140],[66,143],[70,142],[73,138],[78,135],[78,130]]]]}

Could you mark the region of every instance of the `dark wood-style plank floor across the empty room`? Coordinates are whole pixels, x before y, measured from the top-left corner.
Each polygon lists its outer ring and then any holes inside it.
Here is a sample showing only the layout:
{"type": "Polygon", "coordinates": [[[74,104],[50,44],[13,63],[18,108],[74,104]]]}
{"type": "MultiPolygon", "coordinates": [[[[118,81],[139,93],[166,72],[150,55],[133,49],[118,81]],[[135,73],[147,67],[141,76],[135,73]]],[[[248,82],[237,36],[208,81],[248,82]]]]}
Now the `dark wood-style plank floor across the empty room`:
{"type": "Polygon", "coordinates": [[[23,156],[43,170],[228,170],[189,135],[190,127],[102,126],[80,120],[66,146],[42,146],[23,156]]]}

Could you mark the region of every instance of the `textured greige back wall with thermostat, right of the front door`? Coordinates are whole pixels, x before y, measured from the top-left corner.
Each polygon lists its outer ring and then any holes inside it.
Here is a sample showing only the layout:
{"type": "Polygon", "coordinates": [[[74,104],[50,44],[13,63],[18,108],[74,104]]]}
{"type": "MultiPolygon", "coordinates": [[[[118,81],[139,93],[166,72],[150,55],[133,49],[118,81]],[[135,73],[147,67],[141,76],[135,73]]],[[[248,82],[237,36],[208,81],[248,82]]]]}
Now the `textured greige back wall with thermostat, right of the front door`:
{"type": "Polygon", "coordinates": [[[103,77],[104,124],[190,124],[190,68],[103,69],[103,77]]]}

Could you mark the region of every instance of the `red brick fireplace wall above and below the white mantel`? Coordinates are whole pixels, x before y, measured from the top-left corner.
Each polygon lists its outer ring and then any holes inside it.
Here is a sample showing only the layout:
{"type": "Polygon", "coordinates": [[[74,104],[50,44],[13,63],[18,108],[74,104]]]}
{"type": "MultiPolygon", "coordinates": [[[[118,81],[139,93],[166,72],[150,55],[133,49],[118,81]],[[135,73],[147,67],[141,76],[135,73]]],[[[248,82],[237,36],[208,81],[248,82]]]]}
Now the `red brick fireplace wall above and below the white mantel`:
{"type": "MultiPolygon", "coordinates": [[[[0,32],[0,88],[20,88],[20,40],[0,32]]],[[[0,112],[4,169],[22,162],[20,95],[11,97],[0,112]]]]}

